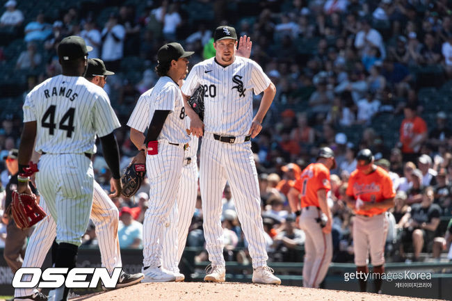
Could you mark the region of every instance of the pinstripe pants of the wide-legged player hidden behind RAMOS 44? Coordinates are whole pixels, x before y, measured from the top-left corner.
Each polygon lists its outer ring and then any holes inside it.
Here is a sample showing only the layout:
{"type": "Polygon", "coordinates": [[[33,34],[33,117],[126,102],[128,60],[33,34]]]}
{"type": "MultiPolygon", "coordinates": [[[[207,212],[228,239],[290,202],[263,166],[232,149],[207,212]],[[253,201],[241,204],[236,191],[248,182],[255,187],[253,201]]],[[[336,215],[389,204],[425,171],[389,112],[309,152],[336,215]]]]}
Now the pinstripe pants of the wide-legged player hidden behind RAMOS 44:
{"type": "MultiPolygon", "coordinates": [[[[41,267],[56,236],[56,223],[49,213],[44,197],[40,199],[40,206],[47,213],[47,218],[36,225],[30,237],[22,264],[24,267],[41,267]]],[[[95,181],[90,217],[96,226],[102,266],[106,267],[110,273],[113,272],[113,268],[122,266],[118,241],[118,215],[118,208],[95,181]]],[[[15,296],[24,297],[32,293],[33,288],[21,288],[16,289],[15,296]]]]}

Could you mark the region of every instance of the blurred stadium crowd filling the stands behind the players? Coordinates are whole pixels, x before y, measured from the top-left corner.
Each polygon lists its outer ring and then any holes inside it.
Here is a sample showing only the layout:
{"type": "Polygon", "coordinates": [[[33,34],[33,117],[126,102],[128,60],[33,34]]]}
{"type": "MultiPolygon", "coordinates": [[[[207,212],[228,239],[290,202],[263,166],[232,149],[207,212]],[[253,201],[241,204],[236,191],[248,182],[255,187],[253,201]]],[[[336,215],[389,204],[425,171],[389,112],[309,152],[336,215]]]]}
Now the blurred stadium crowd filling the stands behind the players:
{"type": "MultiPolygon", "coordinates": [[[[90,58],[102,58],[107,70],[116,72],[108,76],[105,89],[122,124],[139,95],[156,82],[156,50],[165,42],[177,40],[195,51],[194,65],[213,56],[211,29],[218,24],[235,25],[238,33],[252,38],[251,58],[277,88],[264,128],[252,141],[271,260],[302,261],[305,234],[286,193],[323,146],[334,150],[338,165],[328,197],[334,214],[333,261],[353,262],[353,214],[344,196],[355,154],[363,148],[371,149],[378,165],[389,171],[397,190],[396,206],[388,214],[387,260],[418,261],[421,252],[439,259],[446,250],[451,237],[447,217],[452,215],[451,112],[446,104],[421,99],[419,92],[451,86],[451,1],[86,1],[58,13],[33,10],[35,15],[21,11],[22,2],[9,0],[0,10],[0,64],[13,66],[10,74],[25,74],[19,93],[26,95],[59,74],[56,45],[67,35],[80,35],[94,48],[90,58]],[[12,44],[23,51],[8,57],[12,44]]],[[[8,184],[8,160],[14,159],[8,152],[19,145],[22,104],[17,101],[15,111],[0,115],[1,190],[8,184]]],[[[125,168],[136,148],[129,128],[115,134],[125,168]]],[[[108,189],[111,174],[100,148],[93,165],[97,181],[108,189]]],[[[148,193],[145,182],[133,199],[115,200],[121,247],[141,247],[141,222],[152,202],[148,193]]],[[[190,246],[204,246],[201,202],[198,194],[190,246]]],[[[249,262],[228,186],[222,220],[225,258],[249,262]]],[[[84,241],[96,244],[92,226],[84,241]]],[[[201,252],[197,259],[206,260],[206,255],[201,252]]]]}

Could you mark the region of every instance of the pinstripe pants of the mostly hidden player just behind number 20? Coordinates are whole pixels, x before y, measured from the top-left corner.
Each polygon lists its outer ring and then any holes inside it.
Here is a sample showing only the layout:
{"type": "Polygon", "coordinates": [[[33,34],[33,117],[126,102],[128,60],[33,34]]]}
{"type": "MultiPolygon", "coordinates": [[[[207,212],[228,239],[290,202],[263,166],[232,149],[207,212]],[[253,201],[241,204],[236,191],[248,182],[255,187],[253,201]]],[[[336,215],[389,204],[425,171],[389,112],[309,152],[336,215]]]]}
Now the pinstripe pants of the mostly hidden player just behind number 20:
{"type": "Polygon", "coordinates": [[[174,206],[164,229],[163,240],[163,268],[179,272],[179,261],[187,240],[188,227],[190,227],[193,213],[195,213],[197,196],[197,164],[196,158],[190,164],[184,165],[177,193],[177,206],[174,206]],[[174,245],[177,241],[177,248],[174,245]]]}

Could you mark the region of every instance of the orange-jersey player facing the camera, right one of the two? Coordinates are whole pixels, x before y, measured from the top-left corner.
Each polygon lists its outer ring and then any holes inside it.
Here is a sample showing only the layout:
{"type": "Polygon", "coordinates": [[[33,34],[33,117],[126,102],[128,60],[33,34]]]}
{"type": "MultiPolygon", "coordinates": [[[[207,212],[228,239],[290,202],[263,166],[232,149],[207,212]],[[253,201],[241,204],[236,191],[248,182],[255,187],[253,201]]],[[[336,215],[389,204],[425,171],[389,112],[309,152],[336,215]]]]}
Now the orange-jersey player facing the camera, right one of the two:
{"type": "MultiPolygon", "coordinates": [[[[353,250],[359,275],[367,274],[367,258],[371,252],[373,273],[385,272],[387,209],[394,206],[395,192],[389,174],[373,163],[370,149],[357,154],[357,169],[350,174],[346,191],[347,206],[356,214],[353,227],[353,250]]],[[[366,277],[360,277],[360,289],[366,291],[366,277]]],[[[375,292],[380,293],[382,279],[376,277],[375,292]]]]}

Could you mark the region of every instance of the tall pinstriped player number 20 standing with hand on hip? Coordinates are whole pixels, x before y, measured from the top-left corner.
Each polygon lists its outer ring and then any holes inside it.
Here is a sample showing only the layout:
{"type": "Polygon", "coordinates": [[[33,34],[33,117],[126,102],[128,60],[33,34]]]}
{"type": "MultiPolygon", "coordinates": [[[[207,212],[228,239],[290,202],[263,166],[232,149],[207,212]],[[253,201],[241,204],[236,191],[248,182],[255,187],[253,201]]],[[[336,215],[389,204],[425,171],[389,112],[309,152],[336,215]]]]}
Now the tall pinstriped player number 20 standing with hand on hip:
{"type": "Polygon", "coordinates": [[[268,255],[261,218],[261,200],[257,170],[250,138],[261,131],[261,122],[275,97],[275,86],[253,60],[236,56],[237,35],[230,26],[215,30],[215,58],[193,67],[182,86],[187,100],[194,90],[204,86],[204,122],[191,108],[191,131],[203,136],[200,161],[200,188],[204,213],[204,237],[211,270],[204,281],[225,281],[221,196],[229,181],[236,201],[239,220],[249,243],[254,272],[252,281],[280,284],[281,280],[266,265],[268,255]],[[257,115],[252,116],[252,91],[264,92],[257,115]]]}

